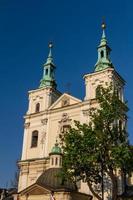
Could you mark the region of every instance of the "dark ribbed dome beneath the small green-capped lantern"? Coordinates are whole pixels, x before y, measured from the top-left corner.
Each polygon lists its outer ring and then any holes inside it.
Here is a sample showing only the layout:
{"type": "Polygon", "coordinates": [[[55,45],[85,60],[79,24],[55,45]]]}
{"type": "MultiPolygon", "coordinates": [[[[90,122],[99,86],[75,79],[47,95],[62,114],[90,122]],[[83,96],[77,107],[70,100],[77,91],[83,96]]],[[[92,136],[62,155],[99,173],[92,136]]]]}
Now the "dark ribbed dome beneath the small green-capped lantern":
{"type": "Polygon", "coordinates": [[[36,183],[53,191],[75,191],[76,186],[73,183],[62,180],[60,175],[61,171],[61,168],[50,168],[42,173],[42,175],[37,179],[36,183]]]}

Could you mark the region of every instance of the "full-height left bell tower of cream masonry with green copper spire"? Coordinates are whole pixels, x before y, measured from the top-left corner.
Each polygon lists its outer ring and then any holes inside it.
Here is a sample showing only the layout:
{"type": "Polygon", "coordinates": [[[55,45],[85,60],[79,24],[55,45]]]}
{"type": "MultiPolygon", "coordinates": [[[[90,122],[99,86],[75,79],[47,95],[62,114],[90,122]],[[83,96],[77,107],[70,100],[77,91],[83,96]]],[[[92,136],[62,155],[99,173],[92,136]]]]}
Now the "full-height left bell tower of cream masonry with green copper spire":
{"type": "Polygon", "coordinates": [[[48,164],[48,109],[61,95],[56,89],[56,67],[53,63],[52,47],[50,43],[39,88],[29,91],[29,106],[24,116],[22,157],[18,163],[19,191],[33,184],[48,164]]]}

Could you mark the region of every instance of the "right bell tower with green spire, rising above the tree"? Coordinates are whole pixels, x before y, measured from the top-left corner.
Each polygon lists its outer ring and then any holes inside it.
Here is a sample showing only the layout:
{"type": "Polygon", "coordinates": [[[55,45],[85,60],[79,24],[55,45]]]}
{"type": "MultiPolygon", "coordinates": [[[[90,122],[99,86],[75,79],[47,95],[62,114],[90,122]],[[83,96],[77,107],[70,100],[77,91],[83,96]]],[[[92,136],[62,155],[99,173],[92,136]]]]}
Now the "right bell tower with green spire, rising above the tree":
{"type": "Polygon", "coordinates": [[[120,99],[123,101],[124,93],[124,79],[116,72],[112,61],[110,59],[111,48],[108,45],[105,28],[106,24],[102,23],[102,37],[100,40],[100,45],[97,47],[98,58],[94,66],[94,72],[86,74],[84,76],[86,93],[85,100],[95,100],[96,89],[98,85],[103,87],[111,83],[117,90],[120,99]]]}

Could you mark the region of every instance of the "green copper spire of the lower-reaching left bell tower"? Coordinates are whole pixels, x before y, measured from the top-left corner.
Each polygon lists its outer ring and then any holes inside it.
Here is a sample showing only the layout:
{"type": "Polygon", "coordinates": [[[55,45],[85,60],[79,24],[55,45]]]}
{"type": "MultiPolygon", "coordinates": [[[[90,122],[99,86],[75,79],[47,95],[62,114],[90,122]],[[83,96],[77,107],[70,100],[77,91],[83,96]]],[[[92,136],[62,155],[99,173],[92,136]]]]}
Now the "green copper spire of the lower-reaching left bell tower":
{"type": "Polygon", "coordinates": [[[52,57],[52,48],[53,44],[49,43],[49,54],[46,63],[43,65],[44,71],[43,71],[43,77],[40,81],[40,88],[42,87],[53,87],[56,88],[56,82],[54,78],[54,72],[55,72],[55,65],[53,63],[53,57],[52,57]]]}

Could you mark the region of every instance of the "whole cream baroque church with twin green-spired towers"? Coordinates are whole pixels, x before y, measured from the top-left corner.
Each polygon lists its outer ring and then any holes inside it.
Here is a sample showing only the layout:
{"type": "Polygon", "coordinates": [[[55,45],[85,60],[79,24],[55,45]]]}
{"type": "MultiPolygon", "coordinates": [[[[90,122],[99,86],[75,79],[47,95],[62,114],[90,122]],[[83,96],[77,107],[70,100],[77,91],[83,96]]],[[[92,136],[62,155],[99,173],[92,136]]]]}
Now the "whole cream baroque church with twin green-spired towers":
{"type": "MultiPolygon", "coordinates": [[[[50,191],[53,191],[53,189],[47,186],[42,187],[43,184],[40,185],[38,180],[41,179],[42,175],[42,179],[45,179],[46,171],[61,167],[59,166],[59,163],[61,164],[60,150],[57,148],[59,151],[55,151],[53,154],[51,154],[51,150],[55,147],[56,141],[59,140],[59,135],[64,134],[70,126],[74,125],[74,120],[81,123],[89,122],[89,109],[97,106],[95,97],[98,85],[105,86],[106,83],[112,83],[117,88],[120,99],[124,101],[125,81],[116,72],[111,62],[111,49],[105,35],[105,24],[102,24],[102,31],[94,72],[83,77],[85,84],[84,100],[58,91],[54,74],[56,67],[52,57],[52,44],[49,44],[49,54],[44,64],[40,86],[29,91],[29,106],[24,116],[23,148],[22,157],[19,161],[18,192],[20,199],[50,198],[50,191]],[[52,156],[53,160],[51,161],[52,156]],[[40,194],[42,196],[37,198],[37,195],[40,194]],[[36,198],[34,195],[36,195],[36,198]]],[[[57,192],[55,199],[91,199],[91,193],[85,183],[78,186],[78,192],[71,189],[55,191],[57,192]]]]}

